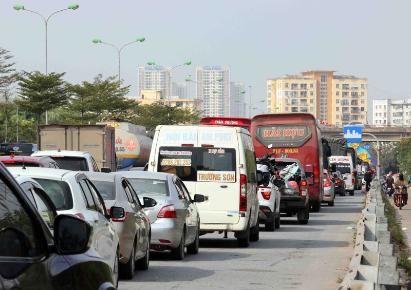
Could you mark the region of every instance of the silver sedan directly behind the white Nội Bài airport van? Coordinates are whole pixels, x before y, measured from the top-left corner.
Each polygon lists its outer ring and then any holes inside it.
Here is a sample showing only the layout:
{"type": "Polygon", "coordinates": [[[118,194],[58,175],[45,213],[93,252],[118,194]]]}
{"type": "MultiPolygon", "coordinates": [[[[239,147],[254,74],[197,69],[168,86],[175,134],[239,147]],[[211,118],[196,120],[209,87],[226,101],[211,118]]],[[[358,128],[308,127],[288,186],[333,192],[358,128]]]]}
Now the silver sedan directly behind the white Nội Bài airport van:
{"type": "MultiPolygon", "coordinates": [[[[120,173],[118,173],[120,174],[120,173]]],[[[174,174],[147,171],[122,171],[137,192],[138,197],[150,197],[157,201],[145,212],[152,225],[151,248],[170,250],[173,260],[197,254],[199,247],[200,216],[195,202],[204,196],[191,198],[184,183],[174,174]]]]}

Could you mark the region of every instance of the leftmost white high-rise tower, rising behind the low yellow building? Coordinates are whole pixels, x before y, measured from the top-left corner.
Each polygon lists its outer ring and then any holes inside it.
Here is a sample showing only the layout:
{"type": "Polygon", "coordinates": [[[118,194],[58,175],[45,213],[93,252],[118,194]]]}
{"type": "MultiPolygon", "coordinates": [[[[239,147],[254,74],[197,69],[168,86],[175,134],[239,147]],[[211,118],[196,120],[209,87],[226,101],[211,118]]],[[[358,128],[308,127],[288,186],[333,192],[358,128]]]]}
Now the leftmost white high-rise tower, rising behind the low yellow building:
{"type": "Polygon", "coordinates": [[[156,65],[138,68],[138,92],[141,95],[142,90],[161,90],[163,97],[169,98],[169,71],[171,67],[159,67],[156,65]],[[168,70],[168,71],[167,71],[168,70]]]}

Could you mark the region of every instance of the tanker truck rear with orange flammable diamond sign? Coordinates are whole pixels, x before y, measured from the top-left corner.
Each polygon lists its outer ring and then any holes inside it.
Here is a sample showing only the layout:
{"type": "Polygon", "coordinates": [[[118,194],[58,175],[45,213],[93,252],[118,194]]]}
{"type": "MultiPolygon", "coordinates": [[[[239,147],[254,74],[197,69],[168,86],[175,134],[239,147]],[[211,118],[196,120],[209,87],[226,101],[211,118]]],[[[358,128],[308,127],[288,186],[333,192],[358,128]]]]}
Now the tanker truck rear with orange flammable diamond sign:
{"type": "Polygon", "coordinates": [[[117,170],[144,167],[150,157],[153,140],[147,137],[145,127],[117,120],[119,119],[97,123],[115,128],[117,170]]]}

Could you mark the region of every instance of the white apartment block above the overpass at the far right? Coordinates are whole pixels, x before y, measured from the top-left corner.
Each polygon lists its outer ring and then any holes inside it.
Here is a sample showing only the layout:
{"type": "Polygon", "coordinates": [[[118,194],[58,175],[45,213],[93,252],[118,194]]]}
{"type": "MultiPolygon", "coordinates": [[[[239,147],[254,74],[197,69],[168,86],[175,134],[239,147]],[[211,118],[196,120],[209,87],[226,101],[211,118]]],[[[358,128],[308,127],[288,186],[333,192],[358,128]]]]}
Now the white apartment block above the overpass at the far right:
{"type": "Polygon", "coordinates": [[[372,125],[409,124],[411,124],[411,99],[372,101],[372,125]]]}

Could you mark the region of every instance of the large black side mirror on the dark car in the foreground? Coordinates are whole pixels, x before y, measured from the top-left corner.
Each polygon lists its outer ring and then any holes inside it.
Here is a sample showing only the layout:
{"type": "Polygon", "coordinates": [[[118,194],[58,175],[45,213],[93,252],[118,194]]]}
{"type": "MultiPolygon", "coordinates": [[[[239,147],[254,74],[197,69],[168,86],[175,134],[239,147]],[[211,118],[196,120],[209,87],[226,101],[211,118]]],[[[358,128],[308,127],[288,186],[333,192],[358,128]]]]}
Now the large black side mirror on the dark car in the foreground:
{"type": "Polygon", "coordinates": [[[87,252],[91,246],[92,227],[77,216],[58,215],[54,220],[54,243],[61,255],[87,252]]]}

